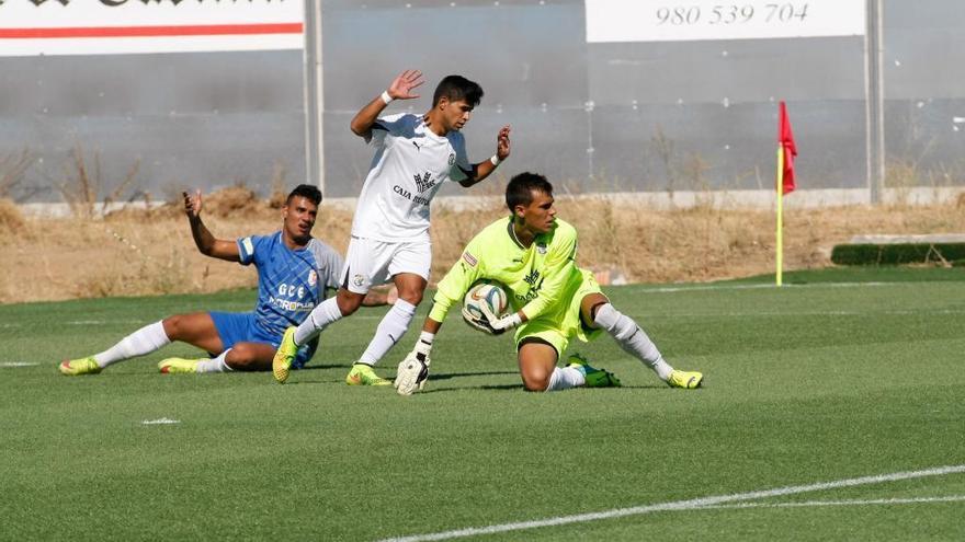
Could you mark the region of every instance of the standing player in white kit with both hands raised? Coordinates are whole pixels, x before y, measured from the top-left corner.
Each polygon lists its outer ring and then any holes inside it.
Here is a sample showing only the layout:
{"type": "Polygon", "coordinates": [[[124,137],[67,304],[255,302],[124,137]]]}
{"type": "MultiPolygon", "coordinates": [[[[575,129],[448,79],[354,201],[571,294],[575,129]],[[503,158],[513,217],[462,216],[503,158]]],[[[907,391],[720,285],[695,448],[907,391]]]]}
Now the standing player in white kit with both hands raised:
{"type": "Polygon", "coordinates": [[[390,385],[372,366],[402,337],[422,301],[432,263],[432,197],[449,181],[464,187],[483,181],[509,157],[510,127],[503,126],[497,135],[496,154],[469,163],[459,130],[483,99],[483,89],[462,76],[449,76],[439,83],[432,108],[424,115],[378,116],[394,100],[419,97],[413,91],[422,83],[418,70],[404,71],[352,119],[352,131],[375,148],[375,155],[359,196],[341,287],[300,325],[285,332],[272,365],[279,382],[287,380],[300,345],[355,312],[373,285],[390,279],[398,288],[398,300],[345,378],[350,385],[390,385]]]}

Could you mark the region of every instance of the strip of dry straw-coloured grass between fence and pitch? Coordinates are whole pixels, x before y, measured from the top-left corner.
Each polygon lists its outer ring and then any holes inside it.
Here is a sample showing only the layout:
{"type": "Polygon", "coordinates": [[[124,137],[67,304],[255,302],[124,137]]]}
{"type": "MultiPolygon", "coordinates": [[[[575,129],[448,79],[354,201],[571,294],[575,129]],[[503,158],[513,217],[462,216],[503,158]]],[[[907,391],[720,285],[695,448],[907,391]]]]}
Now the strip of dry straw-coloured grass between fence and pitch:
{"type": "MultiPolygon", "coordinates": [[[[276,203],[236,186],[205,196],[205,223],[224,239],[281,226],[276,203]]],[[[932,207],[843,207],[785,211],[785,268],[829,266],[831,247],[865,233],[965,232],[965,200],[932,207]]],[[[651,210],[592,197],[558,199],[580,231],[579,263],[631,281],[705,281],[764,274],[774,265],[774,217],[761,210],[651,210]]],[[[433,279],[485,224],[506,211],[438,209],[433,279]]],[[[317,237],[344,252],[351,214],[322,205],[317,237]]],[[[105,219],[23,218],[0,201],[0,302],[101,296],[207,292],[251,287],[253,269],[197,253],[180,204],[105,219]],[[14,233],[14,234],[9,234],[14,233]],[[25,273],[32,287],[22,287],[25,273]]]]}

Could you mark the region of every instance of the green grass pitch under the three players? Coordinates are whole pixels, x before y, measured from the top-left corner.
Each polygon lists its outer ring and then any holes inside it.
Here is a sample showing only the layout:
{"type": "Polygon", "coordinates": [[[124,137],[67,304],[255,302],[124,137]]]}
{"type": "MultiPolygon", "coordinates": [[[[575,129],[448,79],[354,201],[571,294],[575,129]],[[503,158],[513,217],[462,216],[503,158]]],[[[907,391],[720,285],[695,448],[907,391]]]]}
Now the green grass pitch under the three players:
{"type": "Polygon", "coordinates": [[[0,540],[965,540],[965,270],[769,280],[606,290],[704,371],[696,391],[604,336],[575,347],[624,388],[526,393],[510,337],[455,312],[425,392],[347,387],[382,310],[330,327],[286,385],[159,374],[184,345],[66,378],[63,358],[254,292],[0,307],[0,540]],[[647,508],[715,496],[736,500],[647,508]],[[608,510],[626,515],[572,518],[608,510]],[[574,521],[512,526],[554,518],[574,521]]]}

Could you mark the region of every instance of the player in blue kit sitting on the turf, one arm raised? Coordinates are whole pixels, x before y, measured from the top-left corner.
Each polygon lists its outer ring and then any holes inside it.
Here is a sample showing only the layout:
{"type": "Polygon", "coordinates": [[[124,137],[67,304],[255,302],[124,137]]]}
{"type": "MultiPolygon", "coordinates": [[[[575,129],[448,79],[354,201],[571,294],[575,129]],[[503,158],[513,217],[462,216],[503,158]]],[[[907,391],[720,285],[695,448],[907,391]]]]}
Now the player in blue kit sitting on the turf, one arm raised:
{"type": "MultiPolygon", "coordinates": [[[[216,239],[201,220],[201,192],[184,193],[184,211],[197,250],[206,256],[254,264],[258,269],[258,302],[253,312],[196,312],[175,314],[147,325],[100,354],[65,360],[60,372],[67,376],[95,374],[111,364],[150,354],[174,341],[194,345],[211,358],[168,358],[158,365],[163,373],[266,371],[272,357],[291,325],[297,325],[325,300],[328,290],[339,287],[342,256],[311,237],[321,193],[299,185],[282,207],[281,231],[251,235],[237,241],[216,239]]],[[[389,292],[373,290],[366,305],[385,304],[389,292]]],[[[298,350],[295,367],[311,359],[318,342],[298,350]]]]}

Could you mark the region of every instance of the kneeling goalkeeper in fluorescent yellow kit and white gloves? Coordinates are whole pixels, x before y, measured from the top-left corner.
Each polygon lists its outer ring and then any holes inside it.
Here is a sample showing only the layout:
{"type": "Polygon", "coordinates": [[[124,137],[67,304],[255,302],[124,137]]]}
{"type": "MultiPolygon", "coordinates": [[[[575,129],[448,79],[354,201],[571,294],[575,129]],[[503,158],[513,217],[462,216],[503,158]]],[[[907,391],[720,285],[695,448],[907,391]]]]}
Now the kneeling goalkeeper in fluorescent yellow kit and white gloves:
{"type": "Polygon", "coordinates": [[[507,288],[515,312],[492,314],[481,303],[485,319],[470,324],[493,334],[516,327],[515,344],[523,385],[530,391],[616,387],[611,372],[590,367],[579,355],[557,367],[570,338],[587,342],[606,331],[673,388],[701,385],[700,372],[670,367],[646,333],[620,313],[600,290],[593,274],[576,266],[577,232],[556,219],[553,185],[535,173],[521,173],[506,187],[512,216],[480,231],[452,269],[439,282],[434,304],[412,351],[399,364],[395,387],[402,395],[421,389],[429,377],[429,355],[449,309],[475,282],[490,279],[507,288]]]}

